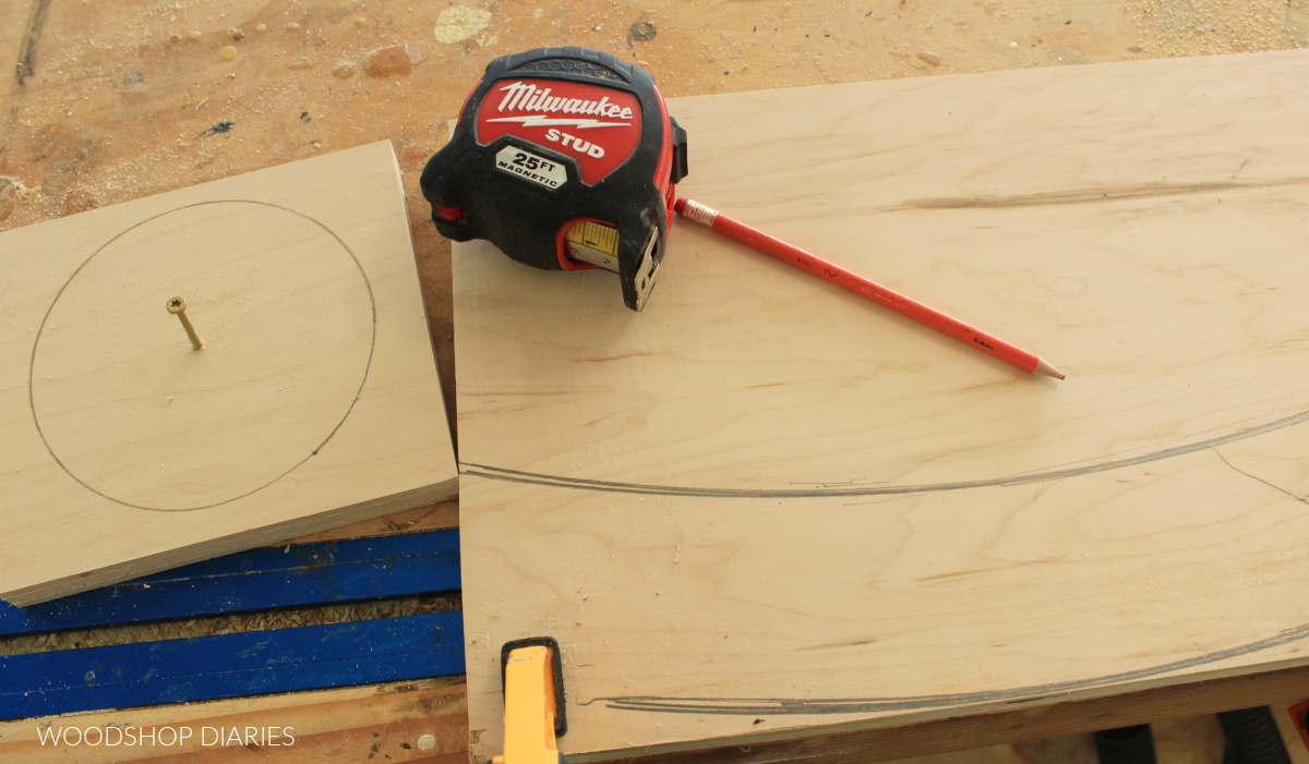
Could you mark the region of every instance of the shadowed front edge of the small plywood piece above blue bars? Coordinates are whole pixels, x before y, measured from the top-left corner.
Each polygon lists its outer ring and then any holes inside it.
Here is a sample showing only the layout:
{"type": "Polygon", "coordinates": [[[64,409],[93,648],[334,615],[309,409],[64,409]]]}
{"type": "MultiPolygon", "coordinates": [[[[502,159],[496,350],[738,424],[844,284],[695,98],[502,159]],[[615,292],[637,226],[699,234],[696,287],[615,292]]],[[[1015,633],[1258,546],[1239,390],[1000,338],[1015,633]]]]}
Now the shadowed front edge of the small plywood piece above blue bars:
{"type": "Polygon", "coordinates": [[[137,557],[109,565],[89,573],[65,576],[33,586],[0,591],[0,599],[16,606],[27,607],[69,594],[77,594],[110,583],[118,583],[140,576],[149,576],[179,565],[199,563],[211,557],[240,552],[253,547],[264,547],[292,540],[297,536],[315,534],[338,526],[367,521],[377,515],[403,512],[419,506],[450,500],[459,493],[458,477],[414,488],[382,498],[363,501],[310,517],[295,518],[283,523],[251,529],[230,536],[211,539],[179,549],[169,549],[148,557],[137,557]]]}

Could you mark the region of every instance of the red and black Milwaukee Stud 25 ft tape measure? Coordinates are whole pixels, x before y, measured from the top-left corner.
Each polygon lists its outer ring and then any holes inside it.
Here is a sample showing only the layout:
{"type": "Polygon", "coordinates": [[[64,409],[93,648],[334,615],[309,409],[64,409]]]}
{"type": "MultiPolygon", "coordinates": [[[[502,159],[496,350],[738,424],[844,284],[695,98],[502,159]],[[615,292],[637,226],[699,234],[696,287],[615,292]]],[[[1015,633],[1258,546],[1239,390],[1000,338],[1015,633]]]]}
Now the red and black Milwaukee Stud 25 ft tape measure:
{"type": "Polygon", "coordinates": [[[432,221],[537,268],[605,268],[645,306],[664,259],[686,131],[618,56],[538,48],[491,61],[423,170],[432,221]]]}

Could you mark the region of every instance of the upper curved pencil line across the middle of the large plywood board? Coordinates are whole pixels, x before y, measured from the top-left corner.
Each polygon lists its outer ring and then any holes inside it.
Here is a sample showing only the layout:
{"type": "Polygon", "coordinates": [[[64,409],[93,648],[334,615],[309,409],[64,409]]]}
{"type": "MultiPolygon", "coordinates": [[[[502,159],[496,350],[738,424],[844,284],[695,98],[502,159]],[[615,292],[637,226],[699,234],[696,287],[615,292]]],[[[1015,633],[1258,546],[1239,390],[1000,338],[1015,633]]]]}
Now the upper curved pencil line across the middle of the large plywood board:
{"type": "Polygon", "coordinates": [[[529,483],[537,485],[554,485],[558,488],[572,488],[575,491],[598,491],[609,493],[640,493],[647,496],[692,496],[702,498],[809,498],[826,496],[898,496],[908,493],[940,493],[945,491],[967,491],[971,488],[994,488],[1009,485],[1029,485],[1031,483],[1046,483],[1049,480],[1062,480],[1064,477],[1080,477],[1096,472],[1109,472],[1124,467],[1148,464],[1173,457],[1182,457],[1215,449],[1217,446],[1253,438],[1270,432],[1284,429],[1309,421],[1309,411],[1301,411],[1291,416],[1270,421],[1244,430],[1237,430],[1225,436],[1196,441],[1170,449],[1160,449],[1136,457],[1113,459],[1098,464],[1083,467],[1068,467],[1063,470],[1045,470],[1021,475],[1005,475],[1003,477],[988,477],[982,480],[954,480],[945,483],[920,483],[916,485],[834,485],[814,488],[695,488],[690,485],[658,485],[653,483],[619,483],[613,480],[592,480],[585,477],[564,477],[560,475],[543,475],[539,472],[524,472],[520,470],[507,470],[488,464],[475,464],[459,462],[462,474],[488,477],[491,480],[504,480],[508,483],[529,483]]]}

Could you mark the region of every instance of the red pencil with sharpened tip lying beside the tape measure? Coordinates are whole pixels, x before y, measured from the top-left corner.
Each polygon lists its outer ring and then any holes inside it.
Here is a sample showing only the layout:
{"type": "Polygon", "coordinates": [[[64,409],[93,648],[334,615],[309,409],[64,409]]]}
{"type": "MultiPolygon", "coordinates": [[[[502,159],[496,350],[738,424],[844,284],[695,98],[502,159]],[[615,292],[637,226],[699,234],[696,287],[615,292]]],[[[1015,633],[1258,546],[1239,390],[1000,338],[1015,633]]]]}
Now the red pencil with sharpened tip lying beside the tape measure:
{"type": "Polygon", "coordinates": [[[895,313],[907,315],[914,321],[924,323],[936,331],[948,334],[959,341],[969,343],[979,351],[991,353],[1001,361],[1008,361],[1024,372],[1043,374],[1046,377],[1054,377],[1055,379],[1064,378],[1063,372],[1055,369],[1035,353],[1029,353],[1028,351],[1009,344],[992,334],[987,334],[974,326],[963,323],[957,318],[946,315],[935,307],[929,307],[916,300],[906,297],[894,289],[888,289],[881,284],[869,281],[868,279],[864,279],[857,273],[852,273],[835,263],[829,263],[822,258],[810,255],[800,247],[793,247],[781,239],[763,233],[762,230],[753,229],[741,221],[732,220],[730,217],[721,215],[715,209],[709,209],[698,201],[683,196],[677,200],[674,209],[682,213],[686,218],[712,228],[713,230],[729,235],[744,245],[749,245],[761,252],[772,255],[784,263],[791,263],[797,268],[809,271],[814,276],[821,276],[838,286],[844,286],[855,294],[861,294],[873,302],[885,305],[895,313]]]}

